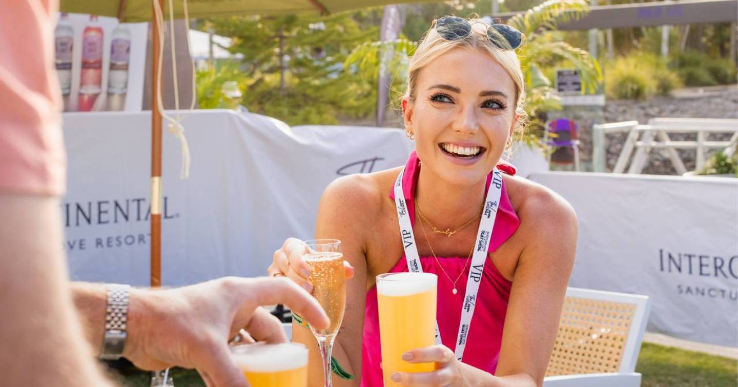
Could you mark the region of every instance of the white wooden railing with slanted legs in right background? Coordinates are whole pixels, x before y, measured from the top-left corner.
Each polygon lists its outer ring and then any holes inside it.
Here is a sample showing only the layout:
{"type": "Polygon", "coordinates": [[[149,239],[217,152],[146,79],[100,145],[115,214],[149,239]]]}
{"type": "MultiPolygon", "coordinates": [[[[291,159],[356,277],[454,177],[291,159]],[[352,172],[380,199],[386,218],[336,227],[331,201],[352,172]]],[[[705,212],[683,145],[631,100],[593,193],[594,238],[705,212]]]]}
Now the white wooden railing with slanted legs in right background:
{"type": "Polygon", "coordinates": [[[648,161],[652,148],[666,150],[666,157],[671,160],[677,174],[686,173],[684,162],[677,149],[696,150],[696,169],[704,168],[706,151],[714,148],[727,148],[738,140],[738,120],[715,118],[652,118],[647,125],[638,125],[637,121],[606,123],[592,126],[593,131],[593,169],[604,172],[606,165],[607,138],[605,134],[628,132],[623,149],[615,162],[613,173],[622,174],[630,161],[628,174],[640,174],[648,161]],[[696,141],[672,141],[668,133],[696,133],[696,141]],[[733,133],[729,141],[708,141],[710,133],[733,133]],[[633,151],[635,150],[635,155],[633,151]],[[631,155],[632,161],[631,161],[631,155]]]}

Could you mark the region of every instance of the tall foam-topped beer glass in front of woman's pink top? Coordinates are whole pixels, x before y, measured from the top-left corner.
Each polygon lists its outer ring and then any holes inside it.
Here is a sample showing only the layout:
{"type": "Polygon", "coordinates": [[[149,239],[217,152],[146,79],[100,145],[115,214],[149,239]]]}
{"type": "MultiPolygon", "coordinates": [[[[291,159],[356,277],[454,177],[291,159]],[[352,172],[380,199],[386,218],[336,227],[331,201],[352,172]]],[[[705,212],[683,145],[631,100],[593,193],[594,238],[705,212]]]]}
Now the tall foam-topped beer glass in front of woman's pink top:
{"type": "Polygon", "coordinates": [[[384,386],[399,386],[395,372],[430,372],[434,363],[407,363],[402,354],[435,344],[438,277],[432,273],[387,273],[376,276],[379,338],[384,386]]]}

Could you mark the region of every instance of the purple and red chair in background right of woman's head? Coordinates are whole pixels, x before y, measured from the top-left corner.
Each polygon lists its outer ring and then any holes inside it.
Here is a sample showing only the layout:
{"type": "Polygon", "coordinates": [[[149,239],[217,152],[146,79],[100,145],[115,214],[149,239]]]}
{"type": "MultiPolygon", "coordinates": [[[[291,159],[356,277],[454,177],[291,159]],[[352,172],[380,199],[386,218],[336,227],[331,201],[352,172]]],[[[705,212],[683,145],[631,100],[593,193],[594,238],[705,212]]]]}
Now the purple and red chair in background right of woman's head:
{"type": "Polygon", "coordinates": [[[579,171],[579,140],[576,139],[576,122],[558,118],[546,123],[543,143],[551,147],[548,164],[571,165],[579,171]]]}

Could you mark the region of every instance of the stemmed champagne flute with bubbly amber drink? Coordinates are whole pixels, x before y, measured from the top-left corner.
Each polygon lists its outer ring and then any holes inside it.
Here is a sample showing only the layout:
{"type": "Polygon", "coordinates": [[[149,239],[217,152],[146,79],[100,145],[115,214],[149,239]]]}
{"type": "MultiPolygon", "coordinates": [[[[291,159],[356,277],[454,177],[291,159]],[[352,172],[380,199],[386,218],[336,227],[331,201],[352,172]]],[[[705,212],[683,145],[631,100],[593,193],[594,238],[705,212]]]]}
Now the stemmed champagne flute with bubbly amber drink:
{"type": "Polygon", "coordinates": [[[333,386],[331,381],[331,352],[333,342],[343,321],[346,305],[345,271],[341,241],[337,239],[318,239],[306,241],[303,259],[310,267],[308,280],[313,285],[313,297],[323,306],[325,314],[331,319],[328,329],[317,330],[310,327],[315,336],[320,355],[323,357],[325,387],[333,386]]]}

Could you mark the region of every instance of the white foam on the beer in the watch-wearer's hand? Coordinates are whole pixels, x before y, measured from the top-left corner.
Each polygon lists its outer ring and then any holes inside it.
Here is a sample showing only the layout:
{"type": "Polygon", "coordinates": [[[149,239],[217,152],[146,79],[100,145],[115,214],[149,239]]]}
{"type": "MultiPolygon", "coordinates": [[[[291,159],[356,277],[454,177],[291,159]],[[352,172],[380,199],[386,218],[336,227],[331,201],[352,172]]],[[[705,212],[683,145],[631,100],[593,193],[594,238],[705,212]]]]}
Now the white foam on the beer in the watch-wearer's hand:
{"type": "Polygon", "coordinates": [[[308,365],[308,349],[300,343],[246,344],[231,348],[241,371],[278,372],[308,365]]]}

